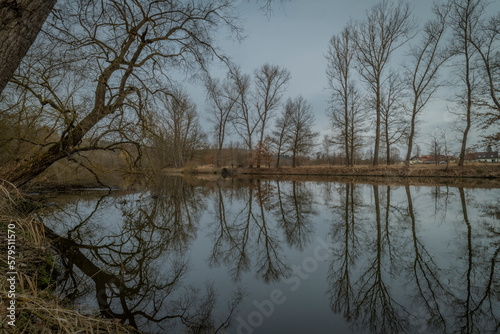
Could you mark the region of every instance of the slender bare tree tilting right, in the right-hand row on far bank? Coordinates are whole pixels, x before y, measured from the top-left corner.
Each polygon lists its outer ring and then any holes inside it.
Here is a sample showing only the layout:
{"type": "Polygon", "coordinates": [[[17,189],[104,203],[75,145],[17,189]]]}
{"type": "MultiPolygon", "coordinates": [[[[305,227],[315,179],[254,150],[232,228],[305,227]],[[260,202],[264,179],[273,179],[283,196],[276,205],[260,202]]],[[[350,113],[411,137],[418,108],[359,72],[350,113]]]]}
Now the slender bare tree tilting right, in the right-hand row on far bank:
{"type": "Polygon", "coordinates": [[[410,49],[410,65],[406,67],[406,82],[411,87],[410,106],[405,107],[410,114],[406,166],[410,165],[417,116],[439,88],[438,70],[451,56],[442,42],[448,12],[448,6],[436,5],[434,7],[435,18],[425,24],[419,43],[410,49]]]}

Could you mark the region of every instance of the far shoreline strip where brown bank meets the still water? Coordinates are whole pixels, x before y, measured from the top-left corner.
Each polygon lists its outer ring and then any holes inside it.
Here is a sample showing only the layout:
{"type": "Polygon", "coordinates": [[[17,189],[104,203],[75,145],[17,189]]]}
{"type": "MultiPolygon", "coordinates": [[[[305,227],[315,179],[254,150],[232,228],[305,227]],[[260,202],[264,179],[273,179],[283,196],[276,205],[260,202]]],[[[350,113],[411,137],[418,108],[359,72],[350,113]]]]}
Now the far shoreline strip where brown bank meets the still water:
{"type": "MultiPolygon", "coordinates": [[[[211,165],[189,168],[165,168],[156,172],[151,180],[165,175],[198,177],[206,180],[217,178],[253,178],[279,179],[296,181],[332,181],[401,185],[463,185],[467,187],[500,188],[500,164],[429,166],[403,165],[391,166],[300,166],[300,167],[263,167],[263,168],[231,168],[211,165]]],[[[122,177],[119,178],[120,180],[122,177]]],[[[149,181],[151,181],[149,180],[149,181]]],[[[82,178],[77,182],[69,179],[37,180],[23,189],[26,195],[46,194],[52,192],[75,191],[131,191],[144,189],[148,178],[137,178],[134,182],[119,182],[116,177],[112,181],[104,179],[102,183],[93,178],[82,178]]]]}

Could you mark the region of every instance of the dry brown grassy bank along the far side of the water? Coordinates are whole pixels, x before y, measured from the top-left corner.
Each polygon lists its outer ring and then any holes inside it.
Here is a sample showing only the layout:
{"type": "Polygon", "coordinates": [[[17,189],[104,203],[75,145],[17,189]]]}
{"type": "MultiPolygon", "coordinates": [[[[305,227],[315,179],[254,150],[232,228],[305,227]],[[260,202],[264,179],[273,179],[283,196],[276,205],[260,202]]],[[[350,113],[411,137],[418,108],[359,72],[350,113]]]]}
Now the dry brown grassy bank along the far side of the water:
{"type": "MultiPolygon", "coordinates": [[[[458,167],[456,164],[443,165],[404,165],[391,166],[300,166],[300,167],[281,167],[281,168],[231,168],[215,167],[213,165],[190,166],[188,168],[166,168],[162,173],[167,175],[193,175],[206,179],[220,177],[222,170],[227,170],[226,176],[247,176],[258,178],[284,178],[301,177],[303,180],[318,179],[328,177],[331,181],[349,181],[369,183],[403,183],[403,184],[422,184],[422,183],[465,183],[468,185],[478,184],[481,186],[500,187],[500,164],[468,164],[464,167],[458,167]]],[[[94,175],[88,171],[73,170],[73,178],[65,174],[58,177],[47,177],[43,174],[34,180],[33,183],[25,187],[27,192],[46,192],[46,191],[74,191],[75,189],[102,188],[110,187],[114,189],[143,189],[148,182],[154,182],[156,174],[151,179],[144,173],[127,174],[121,171],[109,172],[101,175],[102,183],[97,183],[94,175]]]]}

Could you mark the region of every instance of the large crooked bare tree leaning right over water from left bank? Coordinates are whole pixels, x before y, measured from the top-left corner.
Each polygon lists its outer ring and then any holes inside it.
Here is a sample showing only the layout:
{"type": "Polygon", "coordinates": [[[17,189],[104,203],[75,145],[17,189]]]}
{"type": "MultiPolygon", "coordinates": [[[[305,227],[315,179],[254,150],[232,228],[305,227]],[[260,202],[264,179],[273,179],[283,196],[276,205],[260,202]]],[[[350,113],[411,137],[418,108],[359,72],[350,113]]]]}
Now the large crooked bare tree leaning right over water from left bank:
{"type": "MultiPolygon", "coordinates": [[[[228,0],[63,1],[61,6],[67,17],[62,20],[51,16],[48,34],[53,36],[50,42],[57,48],[47,52],[56,50],[62,58],[51,58],[57,63],[45,67],[59,64],[70,66],[75,73],[80,71],[86,79],[80,92],[93,94],[89,103],[81,104],[85,108],[68,110],[58,103],[66,97],[51,96],[49,88],[36,82],[43,78],[38,73],[28,73],[27,80],[15,80],[38,101],[40,108],[75,116],[60,132],[60,140],[8,176],[18,186],[59,159],[97,148],[81,146],[96,125],[100,124],[102,131],[114,129],[120,120],[131,115],[135,123],[130,124],[141,124],[137,120],[143,119],[145,99],[170,81],[167,69],[205,69],[214,57],[224,59],[216,48],[215,32],[224,28],[239,33],[232,2],[228,0]]],[[[40,64],[43,62],[39,59],[40,64]]]]}

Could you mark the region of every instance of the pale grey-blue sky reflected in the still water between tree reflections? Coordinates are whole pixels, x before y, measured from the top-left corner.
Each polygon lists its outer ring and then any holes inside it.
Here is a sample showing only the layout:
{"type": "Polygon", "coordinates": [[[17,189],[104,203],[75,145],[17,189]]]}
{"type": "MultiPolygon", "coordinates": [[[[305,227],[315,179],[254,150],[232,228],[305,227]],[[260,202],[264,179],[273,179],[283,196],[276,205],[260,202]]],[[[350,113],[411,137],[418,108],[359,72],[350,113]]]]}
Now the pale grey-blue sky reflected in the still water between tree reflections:
{"type": "MultiPolygon", "coordinates": [[[[272,186],[276,186],[276,181],[269,181],[272,186]]],[[[289,181],[280,182],[281,191],[284,195],[291,195],[292,185],[289,181]]],[[[218,294],[217,308],[214,315],[217,317],[226,310],[226,303],[230,300],[231,293],[238,287],[243,287],[248,293],[243,301],[238,316],[248,321],[252,312],[257,310],[255,303],[262,303],[269,300],[273,290],[280,289],[286,300],[279,305],[274,305],[274,310],[270,316],[264,318],[263,324],[253,328],[254,333],[319,333],[335,332],[348,333],[349,324],[339,314],[333,314],[330,308],[330,294],[332,283],[340,273],[340,267],[343,261],[342,252],[345,249],[344,239],[344,214],[345,214],[345,185],[340,183],[313,183],[297,182],[297,185],[308,198],[312,199],[312,211],[309,215],[308,229],[311,236],[304,245],[303,250],[290,246],[284,237],[282,228],[278,227],[277,216],[274,206],[273,212],[265,209],[267,217],[266,226],[271,234],[279,240],[280,259],[290,267],[301,267],[302,273],[306,272],[307,278],[300,280],[297,289],[292,289],[294,284],[286,281],[264,282],[256,273],[259,264],[256,263],[256,255],[263,248],[263,239],[257,241],[260,221],[260,208],[258,199],[254,194],[253,213],[258,222],[252,222],[249,228],[249,251],[250,268],[241,275],[241,280],[233,282],[230,278],[229,265],[221,264],[210,267],[208,259],[214,247],[214,236],[218,236],[215,208],[217,201],[217,192],[212,192],[207,196],[205,203],[207,210],[200,216],[200,221],[195,222],[196,238],[190,241],[189,250],[186,254],[189,257],[189,274],[183,283],[193,284],[203,290],[206,281],[213,282],[218,294]],[[327,186],[330,187],[329,190],[327,186]],[[327,194],[328,196],[325,196],[327,194]],[[215,235],[214,235],[215,231],[215,235]],[[334,236],[333,231],[337,231],[334,236]],[[321,241],[319,241],[321,240],[321,241]],[[304,270],[306,261],[314,258],[315,249],[330,247],[334,254],[325,261],[317,261],[317,268],[311,271],[304,270]],[[333,279],[331,278],[333,277],[333,279]],[[220,313],[219,313],[220,312],[220,313]]],[[[299,189],[299,188],[297,188],[299,189]]],[[[374,187],[372,185],[355,185],[354,198],[356,198],[355,221],[351,223],[357,237],[356,244],[350,244],[350,254],[355,255],[350,263],[350,279],[354,296],[362,291],[363,283],[368,285],[373,283],[370,268],[376,261],[377,249],[377,222],[375,215],[375,197],[374,187]],[[367,275],[370,273],[370,275],[367,275]]],[[[391,206],[389,217],[386,220],[387,208],[387,190],[386,185],[378,186],[379,205],[380,205],[380,225],[381,235],[381,277],[383,284],[388,289],[388,294],[394,302],[406,309],[410,315],[417,318],[412,325],[415,330],[422,329],[423,320],[428,316],[422,310],[425,310],[421,301],[416,295],[415,277],[413,276],[413,265],[415,260],[414,239],[412,233],[412,224],[407,216],[408,203],[406,189],[403,186],[391,186],[391,206]],[[386,226],[387,224],[387,226],[386,226]],[[389,236],[386,234],[388,231],[389,236]],[[390,243],[389,243],[390,241],[390,243]],[[391,255],[391,256],[389,256],[391,255]],[[420,318],[418,318],[420,317],[420,318]]],[[[248,191],[244,188],[243,191],[248,191]]],[[[274,188],[276,191],[276,187],[274,188]]],[[[428,265],[432,273],[439,280],[442,286],[451,291],[455,297],[464,300],[466,298],[466,283],[468,270],[468,226],[464,222],[461,197],[459,189],[454,187],[410,187],[413,212],[415,215],[415,233],[418,241],[421,242],[420,255],[424,264],[428,265]],[[437,194],[437,196],[436,196],[437,194]],[[434,265],[435,264],[435,265],[434,265]]],[[[492,233],[488,226],[494,227],[495,231],[498,220],[491,215],[485,214],[485,208],[495,207],[500,200],[499,189],[464,189],[464,195],[467,204],[468,219],[471,228],[471,247],[472,254],[472,276],[471,283],[475,287],[472,291],[472,300],[477,302],[481,299],[486,282],[488,280],[491,259],[495,250],[498,248],[498,235],[492,233]]],[[[146,195],[148,196],[148,195],[146,195]]],[[[274,193],[276,196],[276,193],[274,193]]],[[[168,198],[168,195],[165,197],[168,198]]],[[[230,192],[224,192],[224,204],[228,226],[237,226],[244,223],[244,216],[237,216],[238,212],[246,207],[247,198],[245,196],[234,196],[230,192]],[[239,217],[239,218],[237,218],[239,217]]],[[[89,197],[80,201],[78,205],[68,204],[68,212],[76,210],[81,218],[86,218],[94,209],[94,204],[89,197]]],[[[74,200],[74,197],[73,197],[74,200]]],[[[96,198],[97,200],[97,198],[96,198]]],[[[161,201],[161,197],[158,199],[161,201]]],[[[272,197],[271,201],[275,201],[272,197]]],[[[64,205],[70,201],[56,198],[55,201],[64,205]]],[[[71,203],[71,202],[70,202],[71,203]]],[[[148,202],[149,203],[149,202],[148,202]]],[[[138,194],[126,196],[107,197],[100,210],[90,219],[85,229],[82,231],[84,240],[99,240],[104,237],[119,234],[123,229],[124,219],[120,216],[120,207],[130,205],[130,208],[139,207],[147,211],[146,206],[142,206],[142,200],[138,194]],[[139,199],[139,201],[137,201],[139,199]],[[127,200],[128,204],[118,204],[127,200]],[[85,233],[93,231],[94,234],[88,236],[85,233]]],[[[200,206],[205,207],[205,206],[200,206]]],[[[192,212],[193,213],[193,212],[192,212]]],[[[66,217],[65,215],[61,215],[66,217]]],[[[67,226],[64,228],[60,221],[46,219],[46,223],[52,226],[61,235],[66,235],[65,229],[70,229],[78,223],[76,215],[74,218],[66,218],[67,226]]],[[[164,217],[162,217],[164,218],[164,217]]],[[[63,220],[63,219],[61,219],[63,220]]],[[[157,223],[161,223],[160,221],[157,223]]],[[[243,224],[244,225],[244,224],[243,224]]],[[[351,230],[352,231],[352,230],[351,230]]],[[[352,233],[352,232],[351,232],[352,233]]],[[[111,238],[104,239],[111,241],[111,238]]],[[[85,243],[85,242],[84,242],[85,243]]],[[[321,249],[321,253],[323,249],[321,249]]],[[[169,258],[169,253],[163,253],[158,259],[154,260],[151,268],[162,274],[168,274],[163,271],[170,267],[165,265],[169,258]]],[[[310,262],[309,262],[310,263],[310,262]]],[[[115,268],[116,269],[116,268],[115,268]]],[[[111,270],[111,269],[106,269],[111,270]]],[[[498,270],[494,273],[493,279],[497,279],[498,270]]],[[[291,277],[298,277],[298,274],[291,273],[291,277]]],[[[422,278],[422,276],[421,276],[422,278]]],[[[494,289],[494,287],[493,287],[494,289]]],[[[424,286],[424,291],[427,291],[424,286]]],[[[448,299],[440,295],[441,289],[434,286],[434,292],[437,293],[438,302],[446,302],[448,299]]],[[[83,304],[96,307],[93,294],[84,296],[80,301],[83,304]]],[[[498,299],[493,298],[493,308],[498,307],[498,299]]],[[[378,304],[377,307],[380,307],[378,304]]],[[[393,305],[396,309],[399,306],[393,305]]],[[[366,309],[369,307],[366,306],[366,309]]],[[[462,309],[458,309],[461,311],[462,309]]],[[[443,315],[447,321],[453,322],[456,314],[453,305],[447,305],[443,309],[443,315]]],[[[361,314],[363,315],[363,314],[361,314]]],[[[406,314],[399,314],[406,316],[406,314]]],[[[238,321],[235,322],[237,326],[238,321]]],[[[235,326],[235,327],[236,327],[235,326]]],[[[228,333],[236,333],[235,327],[228,333]]],[[[452,326],[453,327],[453,326],[452,326]]],[[[412,332],[410,329],[410,332],[412,332]]],[[[453,329],[453,328],[452,328],[453,329]]],[[[429,332],[427,329],[425,332],[429,332]]],[[[244,331],[244,333],[246,333],[244,331]]]]}

